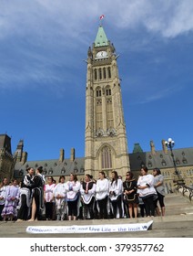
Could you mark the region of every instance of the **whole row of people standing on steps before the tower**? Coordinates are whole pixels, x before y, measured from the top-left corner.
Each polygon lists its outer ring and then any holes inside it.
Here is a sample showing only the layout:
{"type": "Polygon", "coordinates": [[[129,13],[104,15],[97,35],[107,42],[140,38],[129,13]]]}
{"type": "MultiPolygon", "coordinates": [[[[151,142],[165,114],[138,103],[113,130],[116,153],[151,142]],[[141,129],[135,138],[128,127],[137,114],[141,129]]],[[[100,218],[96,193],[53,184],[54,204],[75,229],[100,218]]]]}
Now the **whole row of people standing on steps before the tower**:
{"type": "Polygon", "coordinates": [[[1,220],[76,220],[122,219],[165,215],[164,177],[158,168],[148,174],[147,167],[136,178],[127,172],[123,181],[117,171],[111,178],[101,171],[98,179],[86,174],[78,181],[76,174],[45,178],[43,167],[27,168],[20,186],[14,180],[0,183],[1,220]],[[159,202],[159,206],[157,205],[159,202]]]}

